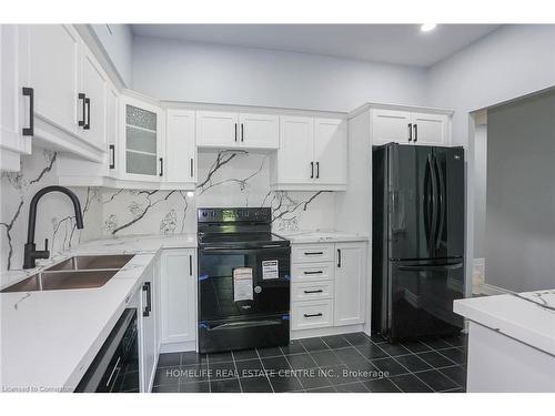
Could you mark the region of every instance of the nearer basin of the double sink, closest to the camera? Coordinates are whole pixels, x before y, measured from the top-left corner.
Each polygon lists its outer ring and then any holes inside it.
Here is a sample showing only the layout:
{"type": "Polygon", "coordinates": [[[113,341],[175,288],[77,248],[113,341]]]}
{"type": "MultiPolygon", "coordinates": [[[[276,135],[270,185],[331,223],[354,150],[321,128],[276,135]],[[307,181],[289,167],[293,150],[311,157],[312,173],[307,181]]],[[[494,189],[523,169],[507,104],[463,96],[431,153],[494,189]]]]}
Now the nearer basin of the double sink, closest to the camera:
{"type": "Polygon", "coordinates": [[[42,272],[6,287],[1,292],[60,291],[103,286],[118,270],[42,272]]]}

